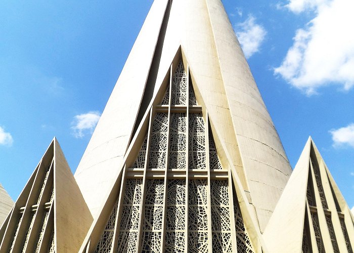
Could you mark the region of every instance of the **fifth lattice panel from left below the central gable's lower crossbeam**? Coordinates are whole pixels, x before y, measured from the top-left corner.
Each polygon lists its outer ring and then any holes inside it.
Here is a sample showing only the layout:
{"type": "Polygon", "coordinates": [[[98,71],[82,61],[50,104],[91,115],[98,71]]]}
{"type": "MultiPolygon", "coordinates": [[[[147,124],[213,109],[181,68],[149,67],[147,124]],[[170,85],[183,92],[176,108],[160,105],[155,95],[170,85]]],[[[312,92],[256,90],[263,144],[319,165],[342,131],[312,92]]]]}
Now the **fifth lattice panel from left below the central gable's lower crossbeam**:
{"type": "Polygon", "coordinates": [[[208,250],[207,180],[190,180],[188,185],[188,251],[208,250]]]}

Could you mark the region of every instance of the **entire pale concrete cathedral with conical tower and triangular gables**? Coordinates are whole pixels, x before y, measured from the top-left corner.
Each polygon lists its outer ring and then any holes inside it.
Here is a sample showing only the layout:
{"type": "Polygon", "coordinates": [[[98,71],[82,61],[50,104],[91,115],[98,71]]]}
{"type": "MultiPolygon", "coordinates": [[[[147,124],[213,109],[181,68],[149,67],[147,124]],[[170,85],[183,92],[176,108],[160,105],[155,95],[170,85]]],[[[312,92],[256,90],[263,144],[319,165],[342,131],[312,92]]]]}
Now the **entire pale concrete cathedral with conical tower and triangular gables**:
{"type": "Polygon", "coordinates": [[[155,0],[73,175],[50,143],[0,252],[353,252],[311,137],[292,170],[220,0],[155,0]]]}

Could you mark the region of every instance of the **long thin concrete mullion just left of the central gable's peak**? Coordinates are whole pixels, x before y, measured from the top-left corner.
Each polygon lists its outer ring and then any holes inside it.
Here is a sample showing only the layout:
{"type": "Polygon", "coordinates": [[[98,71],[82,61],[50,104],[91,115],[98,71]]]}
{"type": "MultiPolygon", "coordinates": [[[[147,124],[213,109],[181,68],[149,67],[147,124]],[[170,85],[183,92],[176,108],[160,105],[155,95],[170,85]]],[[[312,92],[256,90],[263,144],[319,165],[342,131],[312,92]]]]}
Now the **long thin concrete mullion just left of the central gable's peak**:
{"type": "Polygon", "coordinates": [[[165,233],[166,233],[166,205],[167,205],[167,171],[168,171],[168,159],[169,159],[169,124],[171,114],[171,94],[172,94],[172,64],[169,72],[169,98],[168,98],[168,121],[167,121],[167,147],[166,147],[166,163],[163,181],[163,209],[162,209],[162,231],[161,231],[161,248],[160,252],[165,252],[165,233]]]}

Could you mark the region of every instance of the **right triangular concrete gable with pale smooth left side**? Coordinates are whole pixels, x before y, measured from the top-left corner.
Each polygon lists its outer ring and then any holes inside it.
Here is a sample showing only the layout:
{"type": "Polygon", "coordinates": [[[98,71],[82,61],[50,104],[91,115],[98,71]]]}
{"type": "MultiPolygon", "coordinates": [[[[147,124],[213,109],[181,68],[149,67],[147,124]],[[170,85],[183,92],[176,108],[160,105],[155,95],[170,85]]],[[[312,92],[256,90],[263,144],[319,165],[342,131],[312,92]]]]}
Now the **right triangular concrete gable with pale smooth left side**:
{"type": "Polygon", "coordinates": [[[310,137],[265,229],[267,246],[271,252],[351,252],[353,228],[349,207],[310,137]]]}

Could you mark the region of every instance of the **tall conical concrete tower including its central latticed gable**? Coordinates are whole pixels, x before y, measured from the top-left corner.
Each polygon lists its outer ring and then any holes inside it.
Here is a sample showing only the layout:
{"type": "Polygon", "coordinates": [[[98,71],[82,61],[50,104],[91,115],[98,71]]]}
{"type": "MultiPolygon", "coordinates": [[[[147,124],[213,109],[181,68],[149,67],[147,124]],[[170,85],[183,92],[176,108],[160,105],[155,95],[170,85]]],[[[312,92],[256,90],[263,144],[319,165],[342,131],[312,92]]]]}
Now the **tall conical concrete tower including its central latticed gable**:
{"type": "Polygon", "coordinates": [[[155,0],[75,173],[84,248],[260,251],[290,174],[222,2],[155,0]]]}

